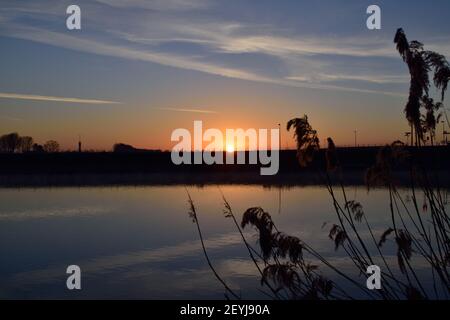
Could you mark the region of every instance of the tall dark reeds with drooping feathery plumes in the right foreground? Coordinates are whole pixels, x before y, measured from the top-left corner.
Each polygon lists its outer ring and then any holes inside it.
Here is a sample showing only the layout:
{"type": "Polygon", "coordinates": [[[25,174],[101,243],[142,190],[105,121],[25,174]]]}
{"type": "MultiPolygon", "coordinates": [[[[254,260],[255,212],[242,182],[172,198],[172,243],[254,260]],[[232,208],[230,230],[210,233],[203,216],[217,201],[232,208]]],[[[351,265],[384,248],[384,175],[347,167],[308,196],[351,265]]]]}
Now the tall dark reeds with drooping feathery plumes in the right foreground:
{"type": "MultiPolygon", "coordinates": [[[[417,41],[409,43],[402,29],[397,31],[394,42],[411,74],[410,95],[405,106],[406,119],[414,131],[411,139],[415,138],[415,148],[423,148],[424,133],[430,133],[433,143],[436,126],[434,112],[442,106],[441,102],[434,103],[428,96],[428,72],[434,70],[434,83],[441,90],[443,99],[450,74],[448,62],[437,53],[425,51],[417,41]],[[421,108],[425,109],[425,118],[421,116],[421,108]]],[[[260,275],[261,285],[267,288],[265,294],[273,299],[448,299],[450,217],[446,212],[445,194],[440,188],[438,175],[432,167],[424,165],[429,161],[421,159],[425,153],[413,152],[414,147],[407,148],[396,141],[381,148],[373,166],[367,169],[367,190],[370,192],[373,188],[383,187],[388,191],[386,202],[389,212],[386,214],[389,215],[389,224],[377,237],[363,205],[348,196],[343,183],[345,173],[333,139],[327,139],[326,156],[321,163],[313,161],[320,143],[308,117],[305,115],[290,120],[287,130],[291,129],[297,142],[299,165],[312,166],[330,196],[336,221],[329,227],[328,237],[335,250],[345,252],[352,270],[341,270],[302,239],[280,231],[272,216],[261,207],[247,209],[239,223],[231,205],[222,195],[224,215],[233,221],[241,235],[249,258],[260,275]],[[395,179],[397,169],[409,172],[410,199],[399,192],[395,179]],[[419,205],[420,196],[424,199],[422,206],[419,205]],[[407,205],[409,201],[412,207],[407,205]],[[243,229],[249,227],[256,232],[258,248],[253,247],[243,233],[243,229]],[[390,240],[395,245],[394,261],[385,253],[385,244],[390,240]],[[427,280],[419,272],[419,260],[431,273],[431,290],[427,289],[427,280]],[[370,265],[379,265],[382,270],[381,290],[370,290],[366,282],[361,281],[367,277],[366,270],[370,265]],[[325,277],[323,268],[331,271],[339,281],[325,277]],[[349,287],[352,289],[349,290],[349,287]]],[[[190,215],[194,217],[210,268],[226,292],[240,299],[241,296],[234,293],[213,268],[189,193],[188,197],[190,215]]]]}

